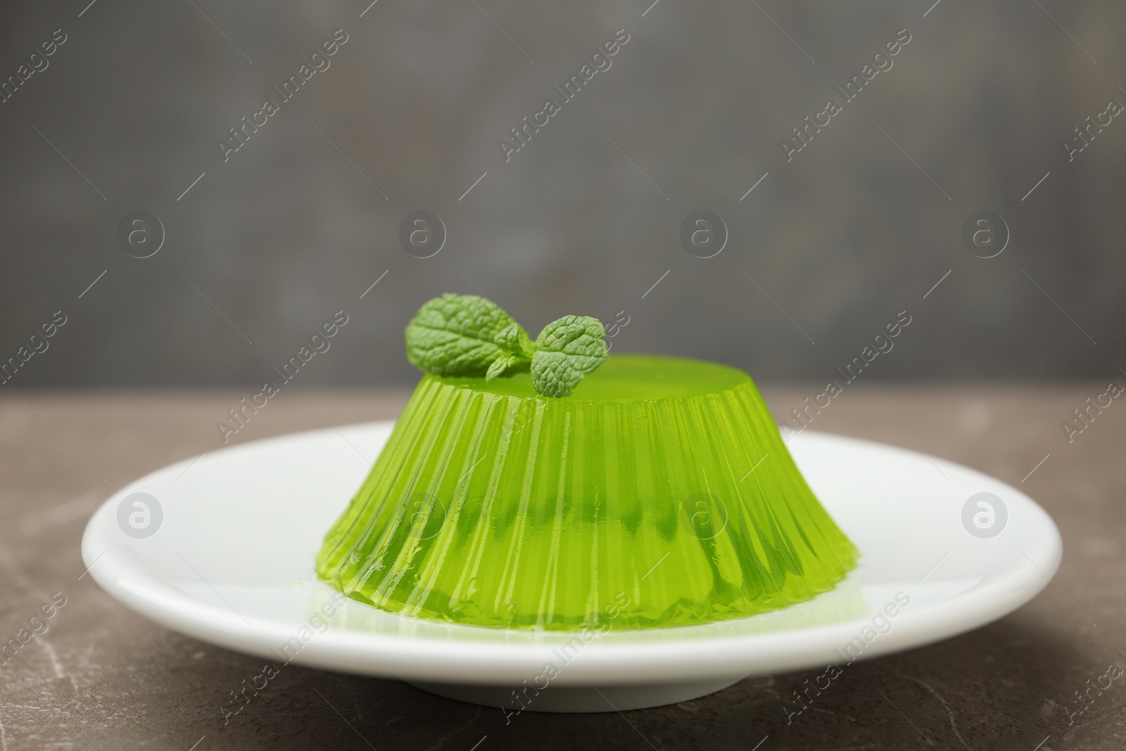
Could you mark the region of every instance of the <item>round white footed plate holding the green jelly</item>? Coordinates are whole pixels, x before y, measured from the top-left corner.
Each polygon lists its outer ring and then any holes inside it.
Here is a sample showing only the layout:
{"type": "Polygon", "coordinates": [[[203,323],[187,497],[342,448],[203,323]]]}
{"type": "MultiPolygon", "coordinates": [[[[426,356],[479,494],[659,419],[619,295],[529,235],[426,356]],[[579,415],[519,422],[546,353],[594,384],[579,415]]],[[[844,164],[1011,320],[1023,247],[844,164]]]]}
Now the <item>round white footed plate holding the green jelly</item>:
{"type": "Polygon", "coordinates": [[[430,623],[354,601],[331,618],[318,615],[333,609],[334,594],[313,573],[321,538],[392,426],[284,436],[164,467],[98,509],[82,558],[107,592],[137,613],[276,665],[292,659],[400,678],[479,704],[556,712],[683,701],[750,674],[830,663],[847,670],[850,659],[995,620],[1030,600],[1060,565],[1058,530],[1016,489],[917,452],[803,432],[790,452],[861,552],[835,590],[808,602],[700,626],[611,629],[589,642],[430,623]],[[125,502],[134,493],[157,499],[148,527],[136,499],[125,502]],[[992,527],[980,499],[964,515],[977,493],[993,494],[985,499],[992,527]],[[129,513],[141,529],[129,526],[129,513]],[[974,515],[985,529],[974,526],[974,515]],[[137,538],[125,529],[155,533],[137,538]],[[969,529],[1000,533],[983,538],[969,529]]]}

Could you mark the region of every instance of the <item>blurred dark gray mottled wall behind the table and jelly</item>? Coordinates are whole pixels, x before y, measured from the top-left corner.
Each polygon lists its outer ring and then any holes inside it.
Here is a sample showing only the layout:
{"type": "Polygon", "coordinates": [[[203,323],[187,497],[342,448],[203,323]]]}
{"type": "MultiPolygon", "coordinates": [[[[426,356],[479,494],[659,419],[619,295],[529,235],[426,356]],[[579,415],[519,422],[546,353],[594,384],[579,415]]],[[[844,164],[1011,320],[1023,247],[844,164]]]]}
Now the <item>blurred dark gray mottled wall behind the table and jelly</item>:
{"type": "Polygon", "coordinates": [[[1126,118],[1064,146],[1126,104],[1121,3],[369,1],[5,3],[0,77],[66,39],[0,104],[0,359],[66,315],[9,388],[260,384],[341,310],[296,381],[405,385],[403,328],[443,292],[533,334],[627,319],[615,351],[763,379],[837,377],[901,311],[864,379],[1126,365],[1126,118]],[[224,161],[338,29],[330,68],[224,161]],[[901,29],[846,104],[835,87],[901,29]],[[506,162],[498,141],[548,98],[506,162]],[[117,238],[137,211],[163,225],[149,258],[117,238]],[[430,258],[399,241],[417,211],[448,234],[430,258]],[[727,227],[712,258],[680,240],[697,211],[727,227]],[[980,211],[1008,226],[993,258],[962,240],[980,211]]]}

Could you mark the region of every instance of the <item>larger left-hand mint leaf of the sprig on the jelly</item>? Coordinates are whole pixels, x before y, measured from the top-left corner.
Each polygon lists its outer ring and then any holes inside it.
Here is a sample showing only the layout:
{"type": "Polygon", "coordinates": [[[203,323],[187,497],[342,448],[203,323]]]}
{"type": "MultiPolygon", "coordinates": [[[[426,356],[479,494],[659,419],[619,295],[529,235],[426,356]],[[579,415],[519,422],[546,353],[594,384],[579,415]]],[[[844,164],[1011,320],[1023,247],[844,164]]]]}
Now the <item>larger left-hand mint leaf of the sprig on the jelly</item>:
{"type": "MultiPolygon", "coordinates": [[[[483,376],[498,358],[515,354],[497,345],[513,325],[512,316],[484,297],[446,293],[423,304],[406,325],[406,359],[435,375],[483,376]]],[[[508,334],[504,341],[510,340],[518,342],[518,334],[508,334]]]]}

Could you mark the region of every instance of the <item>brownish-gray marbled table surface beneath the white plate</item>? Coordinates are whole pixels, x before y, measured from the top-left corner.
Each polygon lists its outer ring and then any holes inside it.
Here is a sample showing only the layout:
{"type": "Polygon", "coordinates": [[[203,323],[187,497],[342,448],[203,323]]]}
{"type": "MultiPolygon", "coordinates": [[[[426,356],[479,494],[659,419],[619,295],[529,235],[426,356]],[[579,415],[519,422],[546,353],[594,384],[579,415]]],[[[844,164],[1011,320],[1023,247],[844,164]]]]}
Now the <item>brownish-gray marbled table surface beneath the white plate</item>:
{"type": "MultiPolygon", "coordinates": [[[[763,388],[778,417],[820,391],[763,388]]],[[[80,578],[79,542],[113,491],[216,449],[215,421],[244,394],[9,392],[0,400],[0,641],[15,637],[52,594],[63,593],[66,604],[45,634],[0,665],[0,751],[1123,749],[1126,681],[1090,691],[1083,714],[1071,714],[1080,707],[1076,691],[1109,665],[1126,667],[1126,406],[1116,400],[1072,442],[1061,428],[1103,391],[1096,383],[856,385],[815,418],[815,429],[919,448],[1020,486],[1056,520],[1064,557],[1054,582],[1017,613],[857,663],[793,724],[783,698],[820,671],[752,678],[674,706],[524,713],[506,724],[500,709],[395,680],[291,667],[224,724],[221,706],[261,661],[133,614],[90,576],[80,578]]],[[[325,420],[391,418],[405,397],[402,391],[286,393],[236,440],[321,428],[325,420]]]]}

